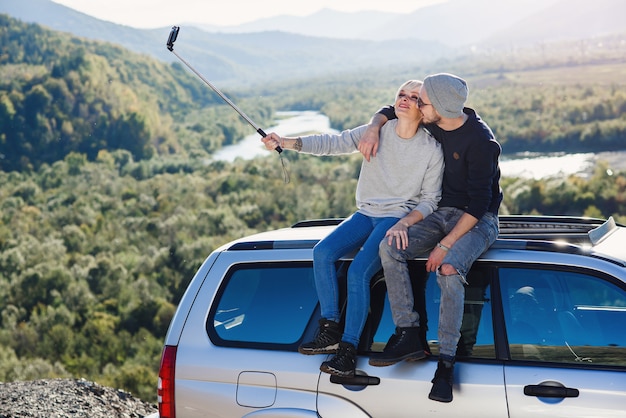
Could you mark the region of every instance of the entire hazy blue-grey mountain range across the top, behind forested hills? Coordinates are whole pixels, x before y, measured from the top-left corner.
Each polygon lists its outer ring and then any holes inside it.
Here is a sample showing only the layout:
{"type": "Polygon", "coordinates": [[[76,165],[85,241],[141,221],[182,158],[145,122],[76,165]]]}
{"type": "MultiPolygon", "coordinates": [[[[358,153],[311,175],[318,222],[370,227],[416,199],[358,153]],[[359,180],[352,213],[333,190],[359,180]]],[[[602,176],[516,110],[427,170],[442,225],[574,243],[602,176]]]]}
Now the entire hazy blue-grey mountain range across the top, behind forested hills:
{"type": "MultiPolygon", "coordinates": [[[[165,47],[169,27],[118,25],[51,0],[5,0],[0,13],[176,61],[165,47]]],[[[241,86],[397,66],[418,71],[468,54],[625,34],[623,16],[623,0],[450,0],[406,14],[325,9],[231,27],[173,24],[181,26],[181,56],[208,78],[241,86]]]]}

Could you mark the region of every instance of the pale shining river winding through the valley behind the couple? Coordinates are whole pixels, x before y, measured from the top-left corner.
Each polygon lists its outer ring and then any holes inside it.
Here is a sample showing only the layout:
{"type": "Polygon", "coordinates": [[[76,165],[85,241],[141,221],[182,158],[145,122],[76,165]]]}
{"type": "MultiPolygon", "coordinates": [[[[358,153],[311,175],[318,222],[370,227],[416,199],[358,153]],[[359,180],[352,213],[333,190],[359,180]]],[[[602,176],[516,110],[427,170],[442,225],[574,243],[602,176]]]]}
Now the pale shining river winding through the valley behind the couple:
{"type": "MultiPolygon", "coordinates": [[[[298,136],[312,132],[337,132],[330,128],[328,117],[316,111],[277,112],[276,125],[265,132],[276,132],[282,136],[298,136]]],[[[263,147],[258,133],[245,137],[235,145],[229,145],[213,155],[214,160],[234,161],[240,157],[251,159],[260,155],[269,155],[263,147]]],[[[288,153],[287,153],[288,156],[288,153]]],[[[503,155],[500,169],[504,177],[547,178],[576,174],[588,177],[598,161],[607,161],[613,170],[626,170],[626,151],[579,153],[579,154],[539,154],[523,153],[503,155]]]]}

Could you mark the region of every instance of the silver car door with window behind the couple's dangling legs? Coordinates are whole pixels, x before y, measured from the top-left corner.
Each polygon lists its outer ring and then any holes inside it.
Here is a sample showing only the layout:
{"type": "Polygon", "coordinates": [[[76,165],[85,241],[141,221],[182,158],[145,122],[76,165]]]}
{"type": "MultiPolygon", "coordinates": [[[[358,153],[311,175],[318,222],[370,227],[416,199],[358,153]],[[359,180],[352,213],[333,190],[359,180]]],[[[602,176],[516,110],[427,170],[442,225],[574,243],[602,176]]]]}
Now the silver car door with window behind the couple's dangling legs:
{"type": "MultiPolygon", "coordinates": [[[[400,362],[388,367],[372,367],[368,353],[382,350],[394,331],[384,280],[375,280],[371,310],[361,337],[357,359],[357,379],[337,379],[322,373],[318,388],[318,413],[323,418],[416,416],[507,416],[502,363],[495,359],[492,325],[491,286],[488,270],[480,263],[468,275],[465,314],[454,373],[454,400],[441,403],[428,399],[437,368],[437,325],[440,291],[434,274],[427,274],[424,263],[411,265],[416,301],[427,307],[427,339],[432,356],[419,362],[400,362]],[[425,282],[424,282],[425,280],[425,282]],[[420,294],[420,289],[425,292],[420,294]],[[370,336],[371,335],[371,336],[370,336]],[[339,405],[349,404],[358,413],[347,415],[339,405]]],[[[320,362],[324,358],[320,359],[320,362]]]]}

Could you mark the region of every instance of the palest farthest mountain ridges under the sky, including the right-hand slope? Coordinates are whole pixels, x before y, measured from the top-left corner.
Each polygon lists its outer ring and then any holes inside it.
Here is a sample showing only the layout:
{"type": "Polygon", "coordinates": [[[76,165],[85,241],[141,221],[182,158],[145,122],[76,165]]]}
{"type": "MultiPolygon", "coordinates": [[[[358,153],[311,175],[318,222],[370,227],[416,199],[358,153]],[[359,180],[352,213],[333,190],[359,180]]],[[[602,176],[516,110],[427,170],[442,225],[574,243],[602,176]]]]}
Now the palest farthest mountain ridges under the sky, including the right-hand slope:
{"type": "Polygon", "coordinates": [[[623,0],[450,0],[407,13],[323,9],[308,16],[279,15],[234,26],[189,24],[208,32],[280,30],[336,39],[419,39],[458,48],[512,42],[519,46],[624,32],[625,15],[623,0]]]}

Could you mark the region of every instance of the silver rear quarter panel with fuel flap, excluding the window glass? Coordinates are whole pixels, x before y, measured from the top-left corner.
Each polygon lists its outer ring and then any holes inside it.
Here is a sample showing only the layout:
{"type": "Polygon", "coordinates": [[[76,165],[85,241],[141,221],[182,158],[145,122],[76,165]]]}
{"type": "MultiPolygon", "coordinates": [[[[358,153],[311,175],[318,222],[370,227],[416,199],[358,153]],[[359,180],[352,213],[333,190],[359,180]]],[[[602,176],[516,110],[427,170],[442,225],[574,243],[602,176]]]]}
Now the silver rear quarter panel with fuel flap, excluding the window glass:
{"type": "MultiPolygon", "coordinates": [[[[264,250],[222,252],[212,260],[211,272],[223,274],[248,258],[250,262],[276,261],[277,255],[277,251],[264,250]]],[[[281,261],[285,257],[310,259],[311,250],[280,251],[280,255],[281,261]]],[[[202,285],[194,299],[202,303],[192,304],[179,339],[177,417],[207,416],[206,411],[216,411],[216,417],[248,416],[265,408],[276,415],[250,416],[285,416],[296,410],[300,416],[316,414],[319,358],[288,351],[218,347],[211,342],[206,321],[222,274],[195,279],[202,280],[202,285]]]]}

